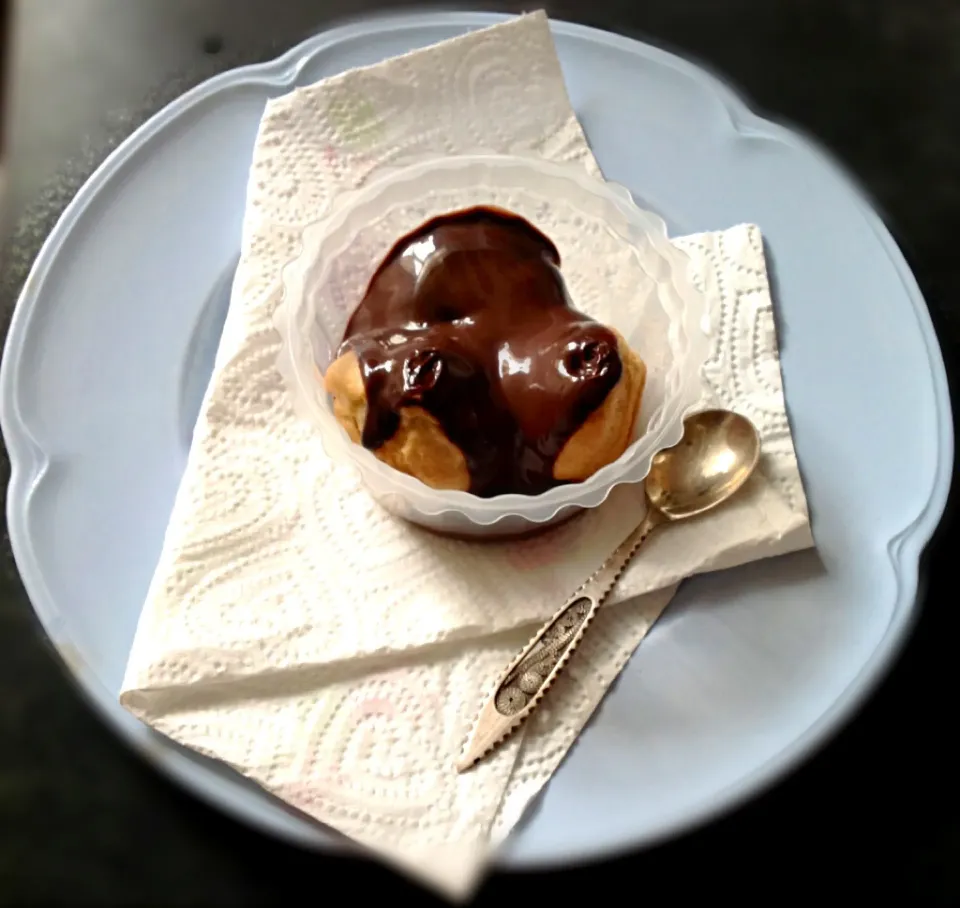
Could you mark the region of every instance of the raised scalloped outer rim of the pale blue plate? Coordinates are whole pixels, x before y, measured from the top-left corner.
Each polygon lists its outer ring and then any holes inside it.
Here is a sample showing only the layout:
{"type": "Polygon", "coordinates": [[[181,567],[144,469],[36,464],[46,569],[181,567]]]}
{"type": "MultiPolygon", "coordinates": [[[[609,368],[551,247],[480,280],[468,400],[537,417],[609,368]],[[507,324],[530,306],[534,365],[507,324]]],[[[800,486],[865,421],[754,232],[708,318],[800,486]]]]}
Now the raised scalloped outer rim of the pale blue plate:
{"type": "MultiPolygon", "coordinates": [[[[199,799],[216,806],[228,815],[258,828],[268,829],[279,837],[301,845],[309,844],[341,852],[354,850],[349,843],[344,846],[341,842],[331,839],[319,840],[315,833],[306,829],[301,832],[299,828],[281,826],[276,821],[265,822],[261,818],[252,817],[244,806],[251,793],[242,791],[227,778],[207,773],[202,777],[202,782],[199,781],[200,776],[196,772],[197,763],[185,758],[179,752],[181,749],[168,745],[161,747],[150,737],[144,737],[143,727],[116,703],[113,695],[104,688],[95,672],[77,657],[69,641],[61,639],[58,610],[51,601],[43,576],[36,565],[29,534],[26,531],[33,491],[47,473],[52,460],[34,440],[20,412],[15,382],[19,372],[20,351],[23,349],[23,341],[34,317],[37,300],[43,290],[46,273],[64,239],[73,230],[80,214],[101,191],[110,185],[111,181],[121,175],[138,153],[149,151],[151,140],[158,133],[183,117],[196,105],[214,98],[221,91],[244,85],[263,85],[292,90],[298,87],[301,72],[315,58],[342,41],[363,38],[371,30],[382,31],[388,28],[392,31],[406,31],[438,25],[481,28],[509,18],[512,16],[501,13],[433,11],[353,20],[308,38],[274,60],[243,66],[214,76],[175,99],[120,143],[66,207],[54,229],[44,241],[24,282],[4,345],[3,361],[0,364],[0,426],[2,426],[11,464],[7,498],[7,522],[11,548],[34,611],[51,642],[57,648],[65,667],[80,682],[81,692],[107,724],[139,751],[149,763],[174,777],[199,799]],[[225,797],[228,791],[230,797],[225,797]],[[241,796],[238,797],[238,795],[241,796]]],[[[931,365],[940,435],[938,460],[929,497],[916,517],[894,534],[886,544],[887,557],[897,581],[897,599],[884,636],[853,681],[817,721],[776,756],[749,772],[737,783],[715,792],[709,800],[701,803],[696,809],[686,811],[675,817],[672,822],[659,824],[644,835],[623,841],[617,846],[583,844],[566,850],[555,849],[549,856],[529,856],[523,860],[511,859],[507,852],[499,857],[498,864],[501,867],[549,867],[570,860],[609,857],[618,851],[649,845],[702,825],[761,793],[797,764],[811,756],[839,731],[889,670],[900,648],[906,642],[913,621],[916,619],[920,605],[918,599],[920,555],[932,537],[946,507],[951,480],[949,465],[953,462],[954,446],[953,425],[949,418],[951,407],[946,370],[929,311],[903,254],[874,207],[867,200],[857,180],[815,141],[752,111],[742,98],[709,70],[655,46],[601,29],[561,20],[551,20],[551,26],[556,34],[617,48],[682,72],[720,102],[730,118],[732,128],[737,133],[779,142],[798,148],[805,153],[815,154],[822,159],[838,181],[856,197],[862,214],[873,234],[882,244],[887,257],[895,266],[903,289],[913,304],[914,315],[931,365]]]]}

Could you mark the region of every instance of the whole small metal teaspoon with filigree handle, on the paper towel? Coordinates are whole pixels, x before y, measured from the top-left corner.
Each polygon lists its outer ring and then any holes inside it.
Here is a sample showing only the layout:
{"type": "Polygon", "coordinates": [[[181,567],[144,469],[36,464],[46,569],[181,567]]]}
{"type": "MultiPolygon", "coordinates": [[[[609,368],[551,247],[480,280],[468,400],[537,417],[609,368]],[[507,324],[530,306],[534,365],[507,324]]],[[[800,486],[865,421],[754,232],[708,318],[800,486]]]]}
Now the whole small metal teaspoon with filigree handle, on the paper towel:
{"type": "Polygon", "coordinates": [[[651,530],[722,504],[747,481],[759,459],[760,436],[746,417],[705,410],[684,421],[680,441],[653,458],[644,483],[643,521],[501,674],[477,716],[457,764],[460,772],[492,753],[534,711],[651,530]]]}

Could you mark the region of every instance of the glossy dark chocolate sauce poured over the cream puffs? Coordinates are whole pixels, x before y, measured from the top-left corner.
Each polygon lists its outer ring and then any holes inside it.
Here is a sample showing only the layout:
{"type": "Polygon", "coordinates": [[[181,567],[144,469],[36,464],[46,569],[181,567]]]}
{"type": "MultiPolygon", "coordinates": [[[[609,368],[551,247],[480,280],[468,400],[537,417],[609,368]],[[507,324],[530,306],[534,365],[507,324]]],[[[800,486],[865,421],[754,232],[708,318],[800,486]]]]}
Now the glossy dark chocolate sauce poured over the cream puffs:
{"type": "Polygon", "coordinates": [[[493,208],[401,239],[347,324],[347,348],[366,388],[364,446],[396,432],[401,408],[421,407],[484,498],[559,485],[554,461],[623,368],[615,335],[570,304],[556,246],[493,208]]]}

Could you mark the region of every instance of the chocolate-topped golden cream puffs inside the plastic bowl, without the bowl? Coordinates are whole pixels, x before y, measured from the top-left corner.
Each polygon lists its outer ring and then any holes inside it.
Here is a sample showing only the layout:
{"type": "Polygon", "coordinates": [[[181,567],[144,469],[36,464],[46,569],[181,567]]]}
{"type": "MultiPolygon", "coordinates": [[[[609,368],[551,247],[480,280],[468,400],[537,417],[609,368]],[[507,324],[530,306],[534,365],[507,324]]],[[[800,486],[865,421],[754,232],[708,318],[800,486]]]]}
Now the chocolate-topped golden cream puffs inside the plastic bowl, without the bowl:
{"type": "Polygon", "coordinates": [[[538,495],[633,440],[646,366],[576,310],[556,246],[470,208],[400,240],[324,376],[347,435],[435,489],[538,495]]]}

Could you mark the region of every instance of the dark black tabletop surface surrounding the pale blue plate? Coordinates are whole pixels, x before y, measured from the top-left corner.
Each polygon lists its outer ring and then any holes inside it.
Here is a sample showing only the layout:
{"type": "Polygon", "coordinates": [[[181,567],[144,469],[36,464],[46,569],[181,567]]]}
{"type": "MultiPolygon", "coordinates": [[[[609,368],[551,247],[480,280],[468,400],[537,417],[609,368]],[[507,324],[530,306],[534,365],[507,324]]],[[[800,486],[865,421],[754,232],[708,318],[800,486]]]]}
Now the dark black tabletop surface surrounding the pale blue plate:
{"type": "MultiPolygon", "coordinates": [[[[6,133],[4,319],[39,244],[118,141],[186,88],[269,59],[346,0],[24,0],[6,133]]],[[[532,4],[536,8],[540,4],[532,4]]],[[[877,201],[960,351],[960,0],[565,0],[555,18],[633,35],[723,74],[819,138],[877,201]]],[[[515,9],[518,4],[487,8],[515,9]]],[[[891,363],[891,368],[897,368],[891,363]]],[[[877,402],[882,407],[882,402],[877,402]]],[[[891,418],[894,418],[891,414],[891,418]]],[[[5,487],[8,465],[2,464],[5,487]]],[[[479,902],[787,898],[960,905],[952,508],[899,664],[819,756],[739,812],[604,864],[498,875],[479,902]]],[[[4,539],[0,904],[256,905],[430,896],[389,871],[298,852],[160,779],[99,724],[40,634],[4,539]],[[347,887],[350,887],[349,889],[347,887]]]]}

